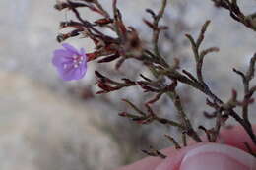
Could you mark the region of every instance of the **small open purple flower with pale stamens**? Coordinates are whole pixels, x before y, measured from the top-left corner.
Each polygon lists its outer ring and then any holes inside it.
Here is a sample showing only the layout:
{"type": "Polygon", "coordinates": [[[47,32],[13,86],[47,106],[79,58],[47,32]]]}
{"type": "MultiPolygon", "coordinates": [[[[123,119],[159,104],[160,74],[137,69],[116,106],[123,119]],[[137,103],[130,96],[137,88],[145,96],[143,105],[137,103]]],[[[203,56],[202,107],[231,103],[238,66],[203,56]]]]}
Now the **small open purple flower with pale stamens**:
{"type": "Polygon", "coordinates": [[[78,51],[67,43],[62,46],[65,49],[57,49],[53,52],[52,64],[64,81],[82,79],[87,71],[87,55],[84,48],[78,51]]]}

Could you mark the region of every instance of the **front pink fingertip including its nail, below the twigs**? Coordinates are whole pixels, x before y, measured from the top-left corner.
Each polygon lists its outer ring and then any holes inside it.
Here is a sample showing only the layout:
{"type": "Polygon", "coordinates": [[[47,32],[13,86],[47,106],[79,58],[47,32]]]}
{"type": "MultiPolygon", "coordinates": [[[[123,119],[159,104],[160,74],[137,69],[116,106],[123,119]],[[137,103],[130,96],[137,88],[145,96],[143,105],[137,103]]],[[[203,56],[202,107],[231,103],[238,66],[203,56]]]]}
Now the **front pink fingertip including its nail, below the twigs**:
{"type": "Polygon", "coordinates": [[[164,159],[156,170],[256,170],[256,158],[220,143],[199,143],[164,159]]]}

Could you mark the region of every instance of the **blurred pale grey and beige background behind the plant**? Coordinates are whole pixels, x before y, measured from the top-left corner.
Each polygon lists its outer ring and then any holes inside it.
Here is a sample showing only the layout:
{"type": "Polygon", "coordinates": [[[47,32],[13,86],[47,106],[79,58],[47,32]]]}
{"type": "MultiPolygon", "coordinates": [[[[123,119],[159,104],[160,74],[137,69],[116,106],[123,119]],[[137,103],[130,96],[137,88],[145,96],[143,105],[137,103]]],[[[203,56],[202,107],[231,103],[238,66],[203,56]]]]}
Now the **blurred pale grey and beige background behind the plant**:
{"type": "MultiPolygon", "coordinates": [[[[108,10],[109,1],[100,0],[108,10]]],[[[127,62],[117,74],[111,65],[90,63],[85,79],[68,83],[59,79],[51,65],[52,51],[60,48],[55,40],[59,22],[72,14],[54,10],[54,4],[54,0],[0,1],[0,169],[111,170],[143,157],[140,150],[150,145],[158,149],[169,146],[163,134],[174,134],[178,140],[177,131],[171,128],[139,126],[118,117],[118,112],[128,109],[121,98],[142,104],[149,97],[140,89],[95,94],[96,69],[116,78],[126,75],[136,79],[140,72],[147,74],[140,65],[127,62]]],[[[246,14],[256,10],[253,0],[240,4],[246,14]]],[[[158,10],[159,0],[120,0],[118,6],[127,25],[137,28],[141,38],[149,41],[151,31],[142,19],[149,19],[146,8],[158,10]]],[[[84,17],[93,20],[96,16],[84,12],[84,17]]],[[[227,100],[232,88],[242,87],[232,68],[246,70],[256,52],[256,34],[232,21],[226,11],[216,9],[210,0],[170,1],[163,20],[169,30],[161,36],[161,52],[169,62],[179,58],[183,68],[194,71],[184,34],[196,36],[208,19],[212,24],[204,47],[218,46],[221,51],[207,57],[204,74],[213,91],[227,100]]],[[[92,42],[85,39],[68,42],[88,52],[94,50],[92,42]]],[[[202,114],[209,109],[206,97],[185,85],[179,86],[179,92],[194,125],[211,127],[202,114]]],[[[167,98],[154,109],[162,117],[176,119],[167,98]]],[[[250,116],[255,123],[254,109],[253,105],[250,116]]]]}

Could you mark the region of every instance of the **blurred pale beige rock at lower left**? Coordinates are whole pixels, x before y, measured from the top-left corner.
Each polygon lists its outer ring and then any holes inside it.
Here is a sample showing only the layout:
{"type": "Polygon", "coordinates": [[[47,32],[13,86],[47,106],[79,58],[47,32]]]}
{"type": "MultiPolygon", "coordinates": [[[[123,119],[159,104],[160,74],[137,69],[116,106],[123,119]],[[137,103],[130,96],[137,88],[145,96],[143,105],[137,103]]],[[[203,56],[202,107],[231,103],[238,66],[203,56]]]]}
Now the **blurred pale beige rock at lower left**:
{"type": "Polygon", "coordinates": [[[1,170],[110,170],[118,145],[96,126],[92,105],[52,94],[44,85],[0,72],[1,170]]]}

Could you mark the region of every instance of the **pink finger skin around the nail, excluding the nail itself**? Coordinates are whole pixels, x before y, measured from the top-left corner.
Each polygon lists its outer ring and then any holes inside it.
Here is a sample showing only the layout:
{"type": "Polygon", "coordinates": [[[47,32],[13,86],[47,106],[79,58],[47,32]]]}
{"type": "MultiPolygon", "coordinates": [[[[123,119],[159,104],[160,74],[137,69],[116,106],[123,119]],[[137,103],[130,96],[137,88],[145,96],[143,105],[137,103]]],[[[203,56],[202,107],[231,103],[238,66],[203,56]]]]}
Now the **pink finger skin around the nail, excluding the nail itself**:
{"type": "MultiPolygon", "coordinates": [[[[256,132],[256,125],[253,126],[253,129],[254,129],[254,132],[256,132]]],[[[248,152],[246,146],[243,144],[244,142],[247,142],[250,144],[252,150],[256,152],[256,145],[254,145],[251,142],[249,136],[240,126],[223,130],[220,134],[219,142],[227,144],[231,147],[244,150],[245,152],[248,152]]],[[[163,154],[167,155],[166,159],[160,159],[158,157],[146,157],[131,165],[118,168],[117,170],[158,170],[158,169],[164,169],[164,168],[160,168],[162,164],[165,164],[164,166],[168,166],[167,169],[180,170],[180,164],[184,156],[190,150],[198,148],[205,144],[209,144],[209,142],[201,142],[201,143],[189,142],[189,145],[187,147],[182,148],[180,150],[176,150],[173,147],[169,147],[161,150],[163,154]]]]}

